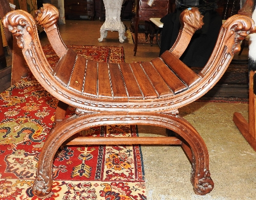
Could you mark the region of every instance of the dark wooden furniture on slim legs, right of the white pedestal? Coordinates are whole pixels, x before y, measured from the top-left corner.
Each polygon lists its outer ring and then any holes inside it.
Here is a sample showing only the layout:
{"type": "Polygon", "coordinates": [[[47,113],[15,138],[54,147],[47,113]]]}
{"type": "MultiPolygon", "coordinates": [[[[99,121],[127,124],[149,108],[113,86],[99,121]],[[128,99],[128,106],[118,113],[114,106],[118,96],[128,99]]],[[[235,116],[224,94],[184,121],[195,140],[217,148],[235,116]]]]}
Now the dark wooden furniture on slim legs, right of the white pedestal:
{"type": "MultiPolygon", "coordinates": [[[[147,40],[148,33],[150,33],[151,23],[150,18],[161,18],[169,13],[169,0],[155,0],[152,6],[147,4],[148,0],[135,0],[133,7],[132,31],[135,34],[134,56],[137,52],[138,46],[138,26],[139,21],[145,21],[145,38],[147,40]]],[[[152,37],[152,36],[151,36],[152,37]]]]}

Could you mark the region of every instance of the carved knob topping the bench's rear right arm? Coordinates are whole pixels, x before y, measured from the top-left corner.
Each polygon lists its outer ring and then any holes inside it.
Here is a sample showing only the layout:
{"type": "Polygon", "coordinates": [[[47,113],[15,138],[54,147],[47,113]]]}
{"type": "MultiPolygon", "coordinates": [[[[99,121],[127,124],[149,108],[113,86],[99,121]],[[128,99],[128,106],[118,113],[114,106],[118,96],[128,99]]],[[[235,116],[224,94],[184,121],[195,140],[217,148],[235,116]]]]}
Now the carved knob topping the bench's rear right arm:
{"type": "Polygon", "coordinates": [[[180,14],[181,29],[193,36],[198,29],[202,28],[203,17],[198,8],[193,7],[184,10],[180,14]]]}

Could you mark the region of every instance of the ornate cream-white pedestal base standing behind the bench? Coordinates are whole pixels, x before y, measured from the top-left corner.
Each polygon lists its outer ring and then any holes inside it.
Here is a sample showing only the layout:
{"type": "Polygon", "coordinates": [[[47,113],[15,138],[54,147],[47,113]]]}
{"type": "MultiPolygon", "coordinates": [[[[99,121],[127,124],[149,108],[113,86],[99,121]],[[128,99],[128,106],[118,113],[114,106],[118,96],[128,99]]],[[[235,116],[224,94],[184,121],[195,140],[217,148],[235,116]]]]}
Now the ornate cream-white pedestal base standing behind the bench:
{"type": "Polygon", "coordinates": [[[124,36],[125,27],[121,21],[121,8],[123,0],[103,0],[105,6],[105,22],[100,28],[100,38],[101,42],[108,35],[108,31],[118,31],[119,41],[124,42],[126,37],[124,36]]]}

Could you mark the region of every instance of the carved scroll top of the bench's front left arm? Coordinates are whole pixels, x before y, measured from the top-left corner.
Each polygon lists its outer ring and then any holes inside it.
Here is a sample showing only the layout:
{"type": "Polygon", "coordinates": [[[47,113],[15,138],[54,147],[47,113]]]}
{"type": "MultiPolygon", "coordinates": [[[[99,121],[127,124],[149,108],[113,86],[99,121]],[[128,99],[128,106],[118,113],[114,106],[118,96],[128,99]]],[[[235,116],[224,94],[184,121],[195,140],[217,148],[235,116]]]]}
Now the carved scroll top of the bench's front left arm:
{"type": "Polygon", "coordinates": [[[29,13],[23,10],[11,11],[6,14],[2,22],[4,27],[16,37],[20,48],[25,51],[30,48],[29,44],[35,39],[36,25],[29,13]]]}

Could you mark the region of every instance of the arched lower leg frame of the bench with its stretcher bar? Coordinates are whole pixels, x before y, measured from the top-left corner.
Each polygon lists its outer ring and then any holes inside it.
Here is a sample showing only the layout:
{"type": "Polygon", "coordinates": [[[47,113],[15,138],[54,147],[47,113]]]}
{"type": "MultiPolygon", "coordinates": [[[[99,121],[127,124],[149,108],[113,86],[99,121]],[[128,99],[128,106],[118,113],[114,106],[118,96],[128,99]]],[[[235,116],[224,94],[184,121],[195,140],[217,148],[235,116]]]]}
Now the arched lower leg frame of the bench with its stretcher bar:
{"type": "Polygon", "coordinates": [[[197,194],[206,194],[214,188],[214,182],[209,173],[209,157],[206,145],[198,132],[184,118],[167,114],[88,114],[85,111],[77,111],[73,115],[56,126],[44,147],[42,148],[38,162],[37,178],[33,185],[33,192],[38,196],[44,196],[51,191],[52,187],[52,165],[54,155],[59,146],[66,141],[66,144],[182,144],[175,137],[139,137],[139,138],[108,138],[102,137],[98,140],[95,137],[78,137],[71,141],[75,133],[98,125],[110,124],[146,124],[161,126],[173,130],[179,134],[191,148],[191,183],[197,194]]]}

